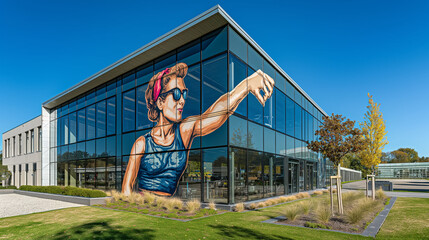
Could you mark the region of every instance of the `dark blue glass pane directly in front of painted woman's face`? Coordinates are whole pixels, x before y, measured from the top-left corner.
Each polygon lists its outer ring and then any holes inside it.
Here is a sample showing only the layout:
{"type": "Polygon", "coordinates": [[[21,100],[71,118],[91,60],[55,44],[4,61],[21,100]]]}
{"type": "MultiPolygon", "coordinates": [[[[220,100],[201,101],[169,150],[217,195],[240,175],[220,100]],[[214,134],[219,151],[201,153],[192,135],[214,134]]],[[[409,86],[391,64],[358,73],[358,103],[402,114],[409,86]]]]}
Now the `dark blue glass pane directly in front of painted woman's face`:
{"type": "Polygon", "coordinates": [[[183,109],[182,118],[185,119],[189,116],[200,115],[200,97],[201,97],[201,69],[200,64],[188,68],[188,74],[184,81],[186,88],[188,88],[189,95],[186,99],[183,109]]]}

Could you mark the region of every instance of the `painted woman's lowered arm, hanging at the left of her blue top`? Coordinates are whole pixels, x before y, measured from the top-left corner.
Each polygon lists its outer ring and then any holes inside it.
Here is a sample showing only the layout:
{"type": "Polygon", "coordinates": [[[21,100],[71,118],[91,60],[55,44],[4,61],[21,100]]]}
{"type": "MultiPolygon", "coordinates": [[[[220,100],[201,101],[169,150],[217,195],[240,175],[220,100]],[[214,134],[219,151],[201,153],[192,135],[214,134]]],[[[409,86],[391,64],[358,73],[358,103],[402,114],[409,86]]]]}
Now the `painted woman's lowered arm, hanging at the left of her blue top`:
{"type": "Polygon", "coordinates": [[[131,149],[130,159],[122,183],[122,193],[127,196],[132,192],[134,183],[136,182],[140,168],[140,160],[142,154],[145,152],[145,145],[145,138],[142,136],[134,142],[133,148],[131,149]]]}

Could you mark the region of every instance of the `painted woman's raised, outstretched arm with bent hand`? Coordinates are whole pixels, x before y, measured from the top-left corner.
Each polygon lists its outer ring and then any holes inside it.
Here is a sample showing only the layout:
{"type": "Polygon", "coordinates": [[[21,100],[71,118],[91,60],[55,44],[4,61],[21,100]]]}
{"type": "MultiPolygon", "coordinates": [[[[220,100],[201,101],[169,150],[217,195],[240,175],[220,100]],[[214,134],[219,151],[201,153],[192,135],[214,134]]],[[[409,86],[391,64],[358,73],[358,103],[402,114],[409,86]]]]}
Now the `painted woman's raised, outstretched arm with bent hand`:
{"type": "Polygon", "coordinates": [[[273,94],[274,84],[274,80],[270,76],[263,73],[261,70],[256,71],[251,76],[241,81],[233,90],[216,100],[197,121],[192,123],[184,121],[183,132],[185,135],[189,133],[191,139],[214,132],[234,113],[240,102],[243,101],[249,92],[255,95],[256,99],[264,106],[265,101],[273,94]],[[260,93],[261,90],[264,92],[263,96],[260,93]],[[218,112],[218,115],[214,114],[218,112]]]}

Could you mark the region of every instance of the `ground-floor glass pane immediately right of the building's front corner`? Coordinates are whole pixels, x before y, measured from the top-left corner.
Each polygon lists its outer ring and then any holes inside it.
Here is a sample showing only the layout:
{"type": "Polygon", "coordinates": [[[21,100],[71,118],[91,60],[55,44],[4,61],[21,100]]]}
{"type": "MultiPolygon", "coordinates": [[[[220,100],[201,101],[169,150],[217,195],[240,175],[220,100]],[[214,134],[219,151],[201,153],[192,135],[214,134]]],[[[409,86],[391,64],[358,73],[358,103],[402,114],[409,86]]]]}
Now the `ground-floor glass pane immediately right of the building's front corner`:
{"type": "Polygon", "coordinates": [[[231,148],[230,154],[234,173],[233,185],[231,186],[234,190],[232,203],[244,202],[247,201],[247,151],[231,148]]]}

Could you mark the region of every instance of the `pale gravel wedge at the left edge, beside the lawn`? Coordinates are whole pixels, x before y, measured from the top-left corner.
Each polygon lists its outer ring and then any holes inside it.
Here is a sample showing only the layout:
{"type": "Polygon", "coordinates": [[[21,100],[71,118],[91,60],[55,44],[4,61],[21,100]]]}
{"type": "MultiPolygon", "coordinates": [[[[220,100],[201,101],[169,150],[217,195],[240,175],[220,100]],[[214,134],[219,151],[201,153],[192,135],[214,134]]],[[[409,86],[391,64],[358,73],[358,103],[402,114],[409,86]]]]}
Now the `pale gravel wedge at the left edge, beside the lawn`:
{"type": "Polygon", "coordinates": [[[0,194],[0,218],[81,206],[84,205],[15,193],[0,194]]]}

